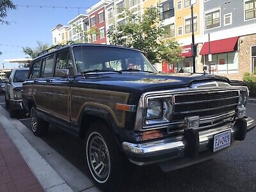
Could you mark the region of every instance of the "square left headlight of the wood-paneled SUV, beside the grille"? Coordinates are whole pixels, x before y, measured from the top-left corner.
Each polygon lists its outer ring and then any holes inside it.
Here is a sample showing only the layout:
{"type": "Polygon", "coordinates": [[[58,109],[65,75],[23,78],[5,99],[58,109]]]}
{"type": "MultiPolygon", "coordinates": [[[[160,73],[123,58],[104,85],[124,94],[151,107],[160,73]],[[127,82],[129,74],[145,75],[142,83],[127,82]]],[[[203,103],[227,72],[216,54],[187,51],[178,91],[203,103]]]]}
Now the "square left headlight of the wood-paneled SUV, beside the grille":
{"type": "Polygon", "coordinates": [[[163,116],[163,102],[160,100],[148,100],[147,104],[147,120],[161,118],[163,116]]]}

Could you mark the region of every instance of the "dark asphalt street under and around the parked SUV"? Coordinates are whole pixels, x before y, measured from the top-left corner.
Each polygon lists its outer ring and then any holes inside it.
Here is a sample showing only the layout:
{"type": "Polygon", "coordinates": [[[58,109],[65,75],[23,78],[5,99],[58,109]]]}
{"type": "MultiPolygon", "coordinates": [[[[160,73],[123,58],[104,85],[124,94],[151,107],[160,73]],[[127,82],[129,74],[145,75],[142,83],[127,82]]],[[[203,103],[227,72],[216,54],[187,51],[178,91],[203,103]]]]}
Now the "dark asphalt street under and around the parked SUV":
{"type": "MultiPolygon", "coordinates": [[[[4,107],[4,97],[0,96],[4,107]]],[[[247,115],[256,120],[256,104],[248,104],[247,115]]],[[[25,113],[17,118],[30,129],[25,113]]],[[[204,163],[164,173],[158,166],[137,167],[124,191],[256,191],[256,129],[237,147],[204,163]]],[[[83,141],[51,126],[42,138],[67,161],[85,173],[83,141]]]]}

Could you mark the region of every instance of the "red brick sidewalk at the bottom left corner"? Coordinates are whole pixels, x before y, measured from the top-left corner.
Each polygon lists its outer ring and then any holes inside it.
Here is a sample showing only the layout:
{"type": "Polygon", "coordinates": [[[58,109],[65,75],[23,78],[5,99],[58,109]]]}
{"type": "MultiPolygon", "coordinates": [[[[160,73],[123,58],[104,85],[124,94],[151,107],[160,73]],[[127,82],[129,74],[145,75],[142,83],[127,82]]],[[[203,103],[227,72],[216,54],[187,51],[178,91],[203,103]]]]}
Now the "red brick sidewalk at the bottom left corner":
{"type": "Polygon", "coordinates": [[[0,124],[0,192],[44,191],[0,124]]]}

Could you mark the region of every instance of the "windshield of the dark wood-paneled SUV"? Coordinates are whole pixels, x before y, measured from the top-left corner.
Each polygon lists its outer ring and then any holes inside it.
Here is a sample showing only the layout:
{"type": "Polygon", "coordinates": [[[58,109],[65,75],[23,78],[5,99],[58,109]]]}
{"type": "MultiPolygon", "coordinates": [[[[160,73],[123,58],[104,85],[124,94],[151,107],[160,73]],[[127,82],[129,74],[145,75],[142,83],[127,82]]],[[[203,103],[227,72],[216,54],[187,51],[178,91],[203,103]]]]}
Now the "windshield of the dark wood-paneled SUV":
{"type": "Polygon", "coordinates": [[[157,72],[140,51],[83,45],[74,47],[73,51],[78,74],[92,70],[120,71],[129,69],[157,72]]]}

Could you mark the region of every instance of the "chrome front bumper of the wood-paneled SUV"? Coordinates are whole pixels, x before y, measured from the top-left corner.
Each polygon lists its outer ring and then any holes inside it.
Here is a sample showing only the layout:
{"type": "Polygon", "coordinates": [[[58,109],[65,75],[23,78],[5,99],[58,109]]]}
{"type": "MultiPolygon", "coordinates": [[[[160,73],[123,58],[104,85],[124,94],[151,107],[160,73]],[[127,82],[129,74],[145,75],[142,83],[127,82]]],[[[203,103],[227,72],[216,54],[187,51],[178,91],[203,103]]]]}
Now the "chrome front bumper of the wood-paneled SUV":
{"type": "MultiPolygon", "coordinates": [[[[122,146],[124,148],[125,155],[129,158],[131,163],[137,165],[145,165],[152,163],[162,163],[176,159],[178,161],[177,168],[181,168],[183,166],[188,166],[189,164],[194,164],[209,159],[212,156],[233,147],[236,145],[238,140],[243,140],[244,137],[242,139],[237,139],[237,134],[241,134],[242,129],[244,129],[245,132],[251,131],[255,127],[255,124],[253,119],[250,117],[244,117],[240,121],[243,121],[245,125],[241,126],[237,120],[236,124],[222,125],[220,127],[214,127],[212,129],[198,132],[198,154],[196,154],[196,156],[193,158],[188,157],[188,149],[191,148],[191,146],[189,146],[191,145],[191,142],[189,143],[189,141],[186,140],[184,136],[166,138],[164,140],[151,141],[148,143],[140,144],[123,142],[122,146]],[[228,129],[231,130],[231,146],[226,147],[218,152],[212,152],[214,134],[218,134],[228,129]],[[183,164],[181,163],[182,158],[187,159],[187,161],[183,164]]],[[[173,169],[176,168],[169,168],[169,170],[173,169]]]]}

